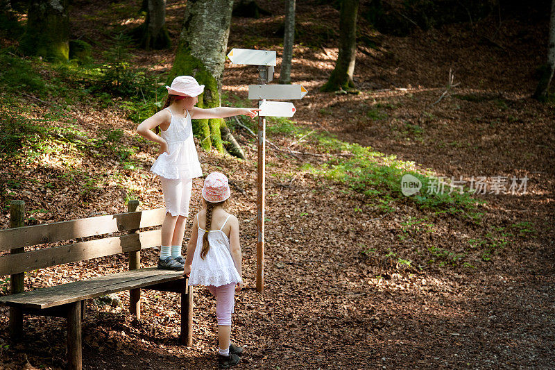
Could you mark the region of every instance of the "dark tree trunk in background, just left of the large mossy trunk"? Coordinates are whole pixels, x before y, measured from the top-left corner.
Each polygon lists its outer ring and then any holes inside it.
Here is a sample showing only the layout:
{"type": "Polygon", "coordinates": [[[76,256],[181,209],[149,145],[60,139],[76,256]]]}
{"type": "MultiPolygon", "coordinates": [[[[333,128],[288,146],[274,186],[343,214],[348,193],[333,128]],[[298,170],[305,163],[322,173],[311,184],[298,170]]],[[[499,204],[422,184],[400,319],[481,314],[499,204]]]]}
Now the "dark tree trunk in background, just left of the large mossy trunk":
{"type": "Polygon", "coordinates": [[[147,6],[146,19],[144,24],[132,31],[133,37],[135,40],[139,40],[140,46],[146,51],[170,47],[171,39],[166,27],[166,0],[146,0],[144,2],[147,6]]]}

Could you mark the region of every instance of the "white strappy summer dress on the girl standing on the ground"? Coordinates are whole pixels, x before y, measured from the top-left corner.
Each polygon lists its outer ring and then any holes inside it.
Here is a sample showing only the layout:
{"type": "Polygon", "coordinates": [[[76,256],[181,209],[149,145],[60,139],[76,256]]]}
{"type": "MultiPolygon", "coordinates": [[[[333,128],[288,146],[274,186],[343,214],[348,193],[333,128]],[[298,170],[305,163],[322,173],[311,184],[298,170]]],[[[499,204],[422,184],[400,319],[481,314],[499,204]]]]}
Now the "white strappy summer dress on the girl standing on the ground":
{"type": "MultiPolygon", "coordinates": [[[[196,249],[193,255],[193,263],[191,264],[191,274],[189,275],[189,285],[213,285],[214,287],[219,287],[230,283],[237,284],[242,281],[231,258],[230,239],[222,230],[230,217],[231,215],[225,219],[219,230],[210,230],[208,232],[210,249],[208,249],[204,260],[200,258],[200,251],[203,249],[203,236],[206,230],[198,228],[196,249]]],[[[198,225],[198,214],[196,215],[196,224],[198,225]]]]}

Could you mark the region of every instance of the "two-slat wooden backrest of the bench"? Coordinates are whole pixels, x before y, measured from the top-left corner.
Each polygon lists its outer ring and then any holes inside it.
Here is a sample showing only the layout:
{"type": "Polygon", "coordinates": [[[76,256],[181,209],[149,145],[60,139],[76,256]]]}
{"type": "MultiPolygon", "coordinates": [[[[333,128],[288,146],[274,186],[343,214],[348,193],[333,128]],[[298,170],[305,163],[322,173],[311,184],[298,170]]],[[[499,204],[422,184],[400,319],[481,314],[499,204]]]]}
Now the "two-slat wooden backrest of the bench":
{"type": "Polygon", "coordinates": [[[0,276],[160,246],[160,230],[140,229],[160,226],[165,215],[166,210],[158,208],[0,230],[0,254],[3,254],[0,255],[0,276]],[[110,235],[121,231],[129,233],[110,235]],[[26,246],[93,236],[102,237],[22,253],[2,253],[26,246]]]}

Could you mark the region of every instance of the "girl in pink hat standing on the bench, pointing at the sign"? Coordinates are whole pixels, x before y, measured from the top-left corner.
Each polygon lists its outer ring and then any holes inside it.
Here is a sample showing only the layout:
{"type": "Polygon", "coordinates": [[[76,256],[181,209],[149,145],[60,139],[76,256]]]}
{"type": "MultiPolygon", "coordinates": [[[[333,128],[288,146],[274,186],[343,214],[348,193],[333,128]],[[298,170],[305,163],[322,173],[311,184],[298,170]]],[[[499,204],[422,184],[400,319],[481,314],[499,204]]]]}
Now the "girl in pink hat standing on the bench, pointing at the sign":
{"type": "Polygon", "coordinates": [[[193,141],[191,119],[224,118],[234,115],[254,118],[259,109],[197,108],[197,96],[203,93],[204,85],[198,85],[191,76],[178,76],[173,79],[171,87],[166,88],[169,95],[164,108],[142,121],[137,127],[137,133],[160,144],[160,156],[151,167],[151,171],[160,176],[167,211],[162,224],[158,268],[180,271],[185,263],[181,255],[181,244],[189,216],[193,178],[202,176],[193,141]],[[153,133],[153,128],[156,129],[156,133],[153,133]],[[158,128],[162,128],[161,136],[157,135],[158,128]]]}

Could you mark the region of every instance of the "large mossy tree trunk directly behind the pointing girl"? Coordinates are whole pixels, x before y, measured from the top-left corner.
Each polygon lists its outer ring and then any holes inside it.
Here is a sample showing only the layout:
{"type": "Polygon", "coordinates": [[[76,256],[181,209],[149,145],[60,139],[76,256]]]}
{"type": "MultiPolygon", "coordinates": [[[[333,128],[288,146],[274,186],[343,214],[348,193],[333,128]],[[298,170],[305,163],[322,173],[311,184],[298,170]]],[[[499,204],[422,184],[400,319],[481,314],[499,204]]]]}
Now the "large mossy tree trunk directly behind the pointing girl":
{"type": "MultiPolygon", "coordinates": [[[[169,83],[176,76],[194,76],[205,85],[198,96],[198,108],[221,104],[221,80],[231,24],[233,0],[189,0],[169,83]]],[[[221,131],[228,133],[223,119],[194,119],[193,132],[201,146],[223,152],[221,131]]],[[[229,140],[228,140],[229,141],[229,140]]],[[[232,151],[230,151],[231,153],[232,151]]]]}

